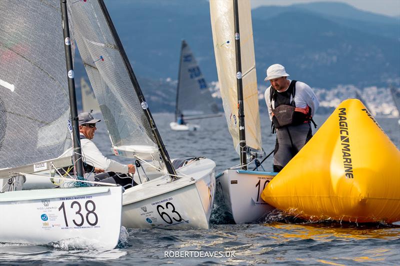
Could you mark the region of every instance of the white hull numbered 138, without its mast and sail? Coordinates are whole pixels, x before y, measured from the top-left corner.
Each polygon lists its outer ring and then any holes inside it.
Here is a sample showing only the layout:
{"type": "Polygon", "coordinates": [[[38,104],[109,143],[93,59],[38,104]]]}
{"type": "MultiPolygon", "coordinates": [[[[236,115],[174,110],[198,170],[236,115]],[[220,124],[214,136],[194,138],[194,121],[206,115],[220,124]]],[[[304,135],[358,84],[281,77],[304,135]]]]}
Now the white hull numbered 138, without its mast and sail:
{"type": "Polygon", "coordinates": [[[44,245],[73,240],[110,250],[118,244],[121,202],[121,187],[1,193],[0,242],[44,245]]]}

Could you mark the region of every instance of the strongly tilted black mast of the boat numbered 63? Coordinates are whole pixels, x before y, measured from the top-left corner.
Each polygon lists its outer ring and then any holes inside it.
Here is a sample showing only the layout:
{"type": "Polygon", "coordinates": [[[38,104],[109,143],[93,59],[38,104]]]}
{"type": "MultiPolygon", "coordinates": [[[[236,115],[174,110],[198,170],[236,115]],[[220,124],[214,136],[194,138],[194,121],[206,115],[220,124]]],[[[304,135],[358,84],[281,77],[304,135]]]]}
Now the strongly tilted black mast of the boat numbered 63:
{"type": "MultiPolygon", "coordinates": [[[[63,0],[63,1],[65,1],[65,0],[63,0]]],[[[100,5],[100,7],[101,7],[101,10],[102,10],[102,12],[104,14],[104,17],[105,17],[106,21],[107,21],[109,29],[111,30],[111,34],[112,34],[112,36],[113,36],[113,38],[114,38],[114,40],[115,40],[115,42],[116,42],[116,44],[118,46],[118,50],[119,50],[120,55],[122,57],[123,63],[124,63],[124,65],[126,67],[126,70],[127,70],[128,74],[129,74],[130,81],[132,82],[133,88],[134,88],[134,90],[136,92],[136,95],[137,95],[139,101],[140,101],[141,108],[143,109],[143,112],[144,112],[144,114],[145,114],[145,116],[147,118],[147,122],[151,127],[151,133],[152,133],[154,139],[157,142],[158,151],[159,151],[159,154],[161,156],[161,159],[165,164],[165,167],[166,167],[166,169],[168,171],[168,174],[173,176],[172,179],[174,179],[175,176],[176,176],[176,171],[172,166],[171,160],[169,159],[168,152],[165,149],[165,146],[164,146],[164,144],[162,142],[161,136],[160,136],[160,134],[158,132],[158,129],[157,129],[155,123],[154,123],[154,119],[151,116],[151,113],[150,113],[150,110],[148,108],[147,102],[144,99],[144,95],[143,95],[143,93],[142,93],[142,91],[140,89],[139,83],[137,82],[136,76],[133,73],[132,66],[130,65],[128,57],[127,57],[127,55],[125,53],[125,50],[122,47],[121,40],[119,39],[119,36],[118,36],[118,34],[116,32],[114,24],[111,21],[111,17],[109,16],[107,8],[105,7],[104,1],[103,0],[98,0],[98,3],[100,5]]]]}

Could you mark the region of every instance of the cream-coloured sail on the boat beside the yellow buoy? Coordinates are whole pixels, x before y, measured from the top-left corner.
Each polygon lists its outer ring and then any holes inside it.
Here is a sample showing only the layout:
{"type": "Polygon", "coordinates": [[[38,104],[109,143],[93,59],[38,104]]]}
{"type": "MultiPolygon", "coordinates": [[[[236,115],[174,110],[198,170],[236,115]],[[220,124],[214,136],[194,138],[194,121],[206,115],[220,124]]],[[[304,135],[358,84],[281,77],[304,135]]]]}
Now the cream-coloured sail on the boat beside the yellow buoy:
{"type": "MultiPolygon", "coordinates": [[[[238,1],[246,146],[262,150],[249,1],[238,1]]],[[[210,0],[212,39],[226,122],[239,153],[233,0],[210,0]]]]}

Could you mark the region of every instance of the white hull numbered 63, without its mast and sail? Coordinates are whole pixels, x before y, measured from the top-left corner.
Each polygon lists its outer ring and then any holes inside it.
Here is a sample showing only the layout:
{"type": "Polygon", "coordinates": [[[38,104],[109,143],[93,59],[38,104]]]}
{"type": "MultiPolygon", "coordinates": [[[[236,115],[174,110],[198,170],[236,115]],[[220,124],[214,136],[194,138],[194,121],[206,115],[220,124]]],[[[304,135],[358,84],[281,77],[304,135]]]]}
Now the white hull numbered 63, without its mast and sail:
{"type": "Polygon", "coordinates": [[[176,181],[162,176],[123,193],[126,228],[208,229],[215,192],[215,163],[201,159],[177,169],[176,181]],[[188,177],[186,177],[188,176],[188,177]]]}

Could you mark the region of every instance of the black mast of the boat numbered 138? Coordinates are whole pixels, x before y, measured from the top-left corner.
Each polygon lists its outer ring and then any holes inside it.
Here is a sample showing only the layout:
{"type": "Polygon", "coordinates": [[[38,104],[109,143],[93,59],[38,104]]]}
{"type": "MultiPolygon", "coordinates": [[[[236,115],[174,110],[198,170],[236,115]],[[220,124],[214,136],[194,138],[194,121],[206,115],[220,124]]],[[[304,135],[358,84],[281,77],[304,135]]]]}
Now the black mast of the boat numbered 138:
{"type": "Polygon", "coordinates": [[[75,175],[77,177],[83,178],[84,172],[83,172],[83,162],[82,162],[82,150],[80,148],[79,122],[78,122],[78,112],[76,107],[75,82],[74,82],[74,73],[72,65],[71,40],[69,37],[66,0],[60,0],[60,5],[61,5],[61,15],[62,15],[62,28],[64,34],[65,64],[66,64],[66,70],[68,72],[69,106],[71,111],[71,123],[72,123],[73,166],[75,175]]]}

